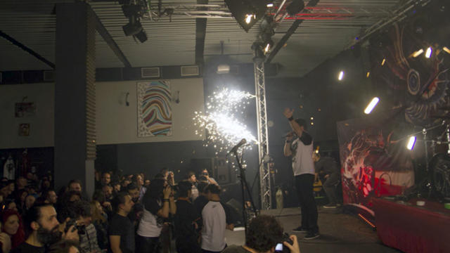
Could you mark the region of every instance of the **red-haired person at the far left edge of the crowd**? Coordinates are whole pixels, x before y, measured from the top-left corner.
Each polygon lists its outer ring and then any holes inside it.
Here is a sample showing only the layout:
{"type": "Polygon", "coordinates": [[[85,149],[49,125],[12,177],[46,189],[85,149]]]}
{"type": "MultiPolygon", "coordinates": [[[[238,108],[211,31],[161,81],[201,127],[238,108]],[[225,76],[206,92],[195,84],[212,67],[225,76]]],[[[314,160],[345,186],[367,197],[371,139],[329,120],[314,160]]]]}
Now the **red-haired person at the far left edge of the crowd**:
{"type": "MultiPolygon", "coordinates": [[[[11,240],[11,249],[15,249],[25,241],[25,231],[22,219],[17,211],[13,209],[4,210],[4,212],[1,213],[1,224],[1,232],[6,233],[11,240]]],[[[8,240],[8,238],[1,237],[2,235],[0,235],[2,246],[8,245],[8,243],[4,243],[4,240],[8,240]]],[[[3,252],[6,252],[5,249],[3,249],[3,252]]]]}

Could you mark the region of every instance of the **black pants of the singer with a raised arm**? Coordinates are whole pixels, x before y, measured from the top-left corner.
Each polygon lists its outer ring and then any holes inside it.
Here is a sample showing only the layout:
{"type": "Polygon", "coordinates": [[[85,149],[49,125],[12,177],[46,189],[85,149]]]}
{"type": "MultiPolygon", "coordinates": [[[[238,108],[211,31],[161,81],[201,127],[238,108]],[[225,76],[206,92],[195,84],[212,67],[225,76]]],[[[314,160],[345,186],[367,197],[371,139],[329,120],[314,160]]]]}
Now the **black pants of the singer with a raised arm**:
{"type": "Polygon", "coordinates": [[[313,174],[295,176],[295,188],[302,208],[302,227],[309,232],[319,233],[317,226],[317,206],[313,195],[313,174]]]}

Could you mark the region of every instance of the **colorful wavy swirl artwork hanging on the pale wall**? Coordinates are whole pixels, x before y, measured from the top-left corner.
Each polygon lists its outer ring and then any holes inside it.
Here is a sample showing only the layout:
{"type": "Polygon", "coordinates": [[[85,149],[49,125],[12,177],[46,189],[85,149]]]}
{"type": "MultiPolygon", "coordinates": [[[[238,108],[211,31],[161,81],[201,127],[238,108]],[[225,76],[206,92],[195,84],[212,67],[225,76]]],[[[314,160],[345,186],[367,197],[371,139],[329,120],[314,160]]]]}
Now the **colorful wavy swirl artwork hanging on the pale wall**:
{"type": "Polygon", "coordinates": [[[138,136],[172,135],[172,93],[167,81],[141,82],[138,90],[138,136]]]}

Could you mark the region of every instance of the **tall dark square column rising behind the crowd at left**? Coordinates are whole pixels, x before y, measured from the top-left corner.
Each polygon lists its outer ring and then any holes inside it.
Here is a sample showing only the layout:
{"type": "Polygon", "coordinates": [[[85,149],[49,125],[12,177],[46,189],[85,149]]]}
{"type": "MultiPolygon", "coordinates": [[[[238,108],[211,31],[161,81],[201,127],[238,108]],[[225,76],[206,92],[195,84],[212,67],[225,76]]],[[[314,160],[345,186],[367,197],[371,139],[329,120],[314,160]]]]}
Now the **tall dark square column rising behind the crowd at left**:
{"type": "Polygon", "coordinates": [[[55,186],[94,193],[95,19],[82,2],[56,4],[55,186]]]}

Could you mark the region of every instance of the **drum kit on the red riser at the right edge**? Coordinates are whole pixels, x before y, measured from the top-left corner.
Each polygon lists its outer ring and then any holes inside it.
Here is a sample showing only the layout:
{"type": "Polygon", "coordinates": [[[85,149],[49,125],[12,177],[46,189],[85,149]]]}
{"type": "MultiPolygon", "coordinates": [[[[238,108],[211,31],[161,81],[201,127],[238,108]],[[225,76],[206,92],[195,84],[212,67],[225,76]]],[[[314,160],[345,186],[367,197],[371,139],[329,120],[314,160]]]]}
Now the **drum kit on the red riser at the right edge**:
{"type": "MultiPolygon", "coordinates": [[[[450,110],[450,108],[445,109],[450,110]]],[[[432,117],[439,118],[441,122],[435,126],[423,128],[421,131],[425,150],[425,178],[419,183],[418,190],[419,194],[425,193],[429,198],[435,197],[438,200],[448,201],[450,200],[450,115],[432,117]],[[437,134],[434,134],[434,138],[428,139],[428,134],[433,129],[437,129],[437,134]],[[429,148],[431,148],[431,159],[429,148]]]]}

